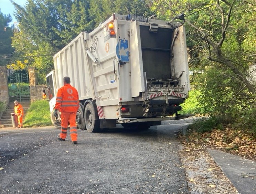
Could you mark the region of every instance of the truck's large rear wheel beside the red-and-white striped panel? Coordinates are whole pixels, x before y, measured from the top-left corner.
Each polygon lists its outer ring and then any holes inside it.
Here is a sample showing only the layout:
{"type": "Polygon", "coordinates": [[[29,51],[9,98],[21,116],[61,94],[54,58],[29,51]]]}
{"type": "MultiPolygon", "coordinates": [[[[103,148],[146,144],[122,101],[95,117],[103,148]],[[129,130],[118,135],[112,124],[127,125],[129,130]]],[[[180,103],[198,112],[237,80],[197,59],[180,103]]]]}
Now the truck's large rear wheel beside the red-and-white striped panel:
{"type": "Polygon", "coordinates": [[[94,104],[95,102],[89,101],[85,106],[84,122],[88,132],[100,131],[98,112],[94,104]]]}

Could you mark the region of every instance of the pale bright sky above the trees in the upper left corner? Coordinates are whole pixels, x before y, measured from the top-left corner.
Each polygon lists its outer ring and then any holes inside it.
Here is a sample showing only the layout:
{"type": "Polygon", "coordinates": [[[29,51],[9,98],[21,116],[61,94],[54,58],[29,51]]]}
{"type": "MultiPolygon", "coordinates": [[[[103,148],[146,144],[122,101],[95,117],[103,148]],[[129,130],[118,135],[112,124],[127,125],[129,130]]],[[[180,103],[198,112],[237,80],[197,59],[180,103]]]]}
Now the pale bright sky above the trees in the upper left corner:
{"type": "MultiPolygon", "coordinates": [[[[18,5],[24,6],[27,0],[13,0],[18,5]]],[[[12,25],[14,22],[16,22],[16,19],[13,15],[15,9],[10,0],[0,0],[0,9],[1,12],[5,15],[10,14],[12,16],[12,23],[9,25],[12,25]]]]}

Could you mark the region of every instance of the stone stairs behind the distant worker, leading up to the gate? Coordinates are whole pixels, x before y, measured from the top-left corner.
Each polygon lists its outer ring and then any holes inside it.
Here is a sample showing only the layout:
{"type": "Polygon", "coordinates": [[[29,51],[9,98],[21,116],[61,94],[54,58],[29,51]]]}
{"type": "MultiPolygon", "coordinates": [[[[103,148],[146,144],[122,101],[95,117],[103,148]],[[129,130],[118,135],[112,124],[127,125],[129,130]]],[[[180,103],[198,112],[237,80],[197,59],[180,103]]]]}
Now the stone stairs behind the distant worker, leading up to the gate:
{"type": "MultiPolygon", "coordinates": [[[[20,103],[24,110],[23,123],[25,121],[26,112],[30,107],[30,102],[21,102],[20,103]]],[[[2,117],[0,118],[0,127],[12,127],[12,118],[11,113],[14,113],[14,103],[11,102],[8,104],[6,110],[4,111],[2,117]]]]}

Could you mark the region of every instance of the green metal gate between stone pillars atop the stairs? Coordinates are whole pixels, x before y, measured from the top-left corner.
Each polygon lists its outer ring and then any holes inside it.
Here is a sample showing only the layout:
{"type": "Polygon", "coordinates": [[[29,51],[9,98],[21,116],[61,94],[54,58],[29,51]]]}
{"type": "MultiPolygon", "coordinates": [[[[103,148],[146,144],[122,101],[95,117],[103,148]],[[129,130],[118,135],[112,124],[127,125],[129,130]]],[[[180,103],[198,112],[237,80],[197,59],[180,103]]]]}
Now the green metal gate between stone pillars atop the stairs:
{"type": "Polygon", "coordinates": [[[8,89],[10,102],[30,102],[28,73],[8,73],[8,89]]]}

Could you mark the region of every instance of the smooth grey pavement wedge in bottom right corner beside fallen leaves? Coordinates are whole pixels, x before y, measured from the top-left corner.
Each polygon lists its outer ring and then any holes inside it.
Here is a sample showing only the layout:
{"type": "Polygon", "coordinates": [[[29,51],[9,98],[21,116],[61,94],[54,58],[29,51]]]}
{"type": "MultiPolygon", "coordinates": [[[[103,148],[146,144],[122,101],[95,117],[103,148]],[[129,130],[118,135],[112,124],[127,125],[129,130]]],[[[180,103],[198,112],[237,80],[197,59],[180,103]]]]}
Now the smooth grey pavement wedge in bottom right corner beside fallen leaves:
{"type": "Polygon", "coordinates": [[[210,148],[207,151],[239,193],[256,193],[255,161],[210,148]]]}

